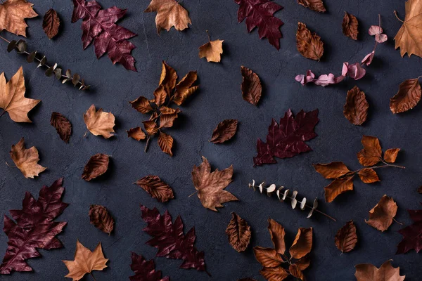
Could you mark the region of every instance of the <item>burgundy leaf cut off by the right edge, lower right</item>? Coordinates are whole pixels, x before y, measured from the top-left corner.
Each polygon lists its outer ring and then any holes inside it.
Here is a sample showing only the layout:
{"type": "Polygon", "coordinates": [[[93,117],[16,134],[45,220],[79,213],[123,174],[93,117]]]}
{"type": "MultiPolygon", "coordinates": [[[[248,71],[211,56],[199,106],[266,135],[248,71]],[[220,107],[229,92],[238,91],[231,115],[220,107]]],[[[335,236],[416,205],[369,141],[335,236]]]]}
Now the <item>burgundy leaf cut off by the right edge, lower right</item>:
{"type": "Polygon", "coordinates": [[[422,209],[407,211],[414,223],[399,230],[399,233],[403,235],[403,240],[397,244],[396,254],[404,254],[411,249],[418,253],[422,249],[422,209]]]}

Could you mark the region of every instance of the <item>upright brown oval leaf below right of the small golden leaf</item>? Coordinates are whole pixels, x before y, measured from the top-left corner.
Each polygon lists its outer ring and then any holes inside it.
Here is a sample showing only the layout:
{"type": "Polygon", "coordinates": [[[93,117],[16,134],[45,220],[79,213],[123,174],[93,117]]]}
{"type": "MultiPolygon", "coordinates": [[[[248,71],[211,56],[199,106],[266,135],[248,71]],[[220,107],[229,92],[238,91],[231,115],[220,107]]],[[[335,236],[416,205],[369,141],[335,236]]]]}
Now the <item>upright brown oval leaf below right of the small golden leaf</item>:
{"type": "Polygon", "coordinates": [[[242,73],[242,96],[251,105],[257,106],[262,95],[260,77],[248,67],[241,66],[242,73]]]}

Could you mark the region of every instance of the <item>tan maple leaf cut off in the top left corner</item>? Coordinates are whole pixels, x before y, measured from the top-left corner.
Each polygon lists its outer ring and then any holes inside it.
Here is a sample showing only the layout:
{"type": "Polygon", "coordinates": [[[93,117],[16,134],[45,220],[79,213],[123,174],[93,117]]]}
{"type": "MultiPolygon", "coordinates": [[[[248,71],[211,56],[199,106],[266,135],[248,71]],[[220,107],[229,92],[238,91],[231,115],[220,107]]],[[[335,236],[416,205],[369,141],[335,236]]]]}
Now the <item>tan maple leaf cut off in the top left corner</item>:
{"type": "Polygon", "coordinates": [[[27,24],[25,18],[35,18],[37,13],[32,9],[34,4],[27,0],[7,0],[0,4],[0,32],[7,30],[16,35],[26,37],[27,24]]]}

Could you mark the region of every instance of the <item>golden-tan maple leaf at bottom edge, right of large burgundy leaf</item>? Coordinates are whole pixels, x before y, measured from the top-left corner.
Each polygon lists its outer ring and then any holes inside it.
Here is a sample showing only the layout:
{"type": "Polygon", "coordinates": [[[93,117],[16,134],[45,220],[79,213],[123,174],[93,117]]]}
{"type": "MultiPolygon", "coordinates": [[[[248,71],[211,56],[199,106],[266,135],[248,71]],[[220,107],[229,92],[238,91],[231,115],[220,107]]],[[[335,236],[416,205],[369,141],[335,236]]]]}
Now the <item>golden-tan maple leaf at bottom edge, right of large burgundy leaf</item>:
{"type": "Polygon", "coordinates": [[[104,257],[101,242],[91,251],[77,240],[75,259],[73,261],[63,261],[68,268],[69,273],[65,277],[72,278],[73,281],[81,280],[85,274],[91,273],[93,270],[103,270],[107,267],[108,259],[104,257]]]}

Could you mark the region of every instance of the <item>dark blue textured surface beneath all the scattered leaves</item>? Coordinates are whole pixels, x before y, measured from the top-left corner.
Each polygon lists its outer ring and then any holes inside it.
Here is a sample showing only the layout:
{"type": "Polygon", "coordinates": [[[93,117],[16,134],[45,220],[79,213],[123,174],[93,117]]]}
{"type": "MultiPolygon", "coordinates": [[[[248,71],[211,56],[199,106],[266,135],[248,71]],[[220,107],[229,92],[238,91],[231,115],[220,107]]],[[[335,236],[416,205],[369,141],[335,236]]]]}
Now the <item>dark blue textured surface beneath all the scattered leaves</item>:
{"type": "MultiPolygon", "coordinates": [[[[389,98],[397,92],[404,79],[421,75],[421,58],[400,58],[394,50],[392,38],[401,26],[393,11],[404,18],[404,1],[336,1],[325,0],[327,12],[316,13],[299,6],[294,0],[276,0],[284,6],[276,16],[283,20],[281,49],[258,38],[257,30],[248,34],[245,23],[237,22],[238,5],[231,0],[184,0],[181,4],[189,11],[193,25],[184,32],[174,29],[162,32],[155,30],[155,13],[143,13],[148,0],[101,0],[103,8],[117,5],[127,8],[127,16],[120,25],[139,34],[131,41],[137,46],[133,51],[139,72],[129,72],[121,65],[113,65],[105,56],[97,60],[94,47],[82,50],[81,21],[71,24],[73,5],[71,1],[34,1],[40,15],[49,8],[60,14],[61,32],[49,40],[41,29],[42,16],[27,20],[27,43],[31,50],[45,52],[50,62],[56,61],[64,69],[78,72],[93,85],[87,93],[79,92],[70,85],[61,85],[53,78],[44,77],[36,65],[27,64],[25,57],[6,53],[6,44],[1,43],[0,71],[10,79],[23,65],[27,97],[42,102],[30,112],[33,124],[12,122],[8,115],[0,118],[0,213],[9,209],[20,209],[25,191],[38,196],[42,185],[50,185],[60,176],[65,177],[64,202],[70,203],[58,221],[68,221],[63,233],[58,235],[65,247],[51,251],[40,250],[41,257],[28,263],[34,273],[13,273],[1,276],[1,280],[64,280],[68,273],[62,259],[73,259],[75,243],[79,239],[86,247],[94,249],[103,243],[103,251],[110,261],[108,268],[94,272],[97,280],[128,280],[132,271],[130,251],[152,259],[156,249],[144,243],[150,238],[142,232],[143,223],[139,204],[158,207],[161,212],[169,209],[173,218],[181,215],[185,230],[196,227],[196,247],[205,251],[209,278],[203,272],[179,269],[181,261],[164,258],[155,259],[156,268],[169,275],[171,280],[237,280],[241,277],[260,276],[260,264],[255,261],[252,247],[271,247],[267,231],[267,218],[279,221],[286,228],[287,243],[293,242],[298,227],[314,228],[312,263],[305,271],[308,280],[354,280],[354,265],[373,263],[381,266],[393,259],[400,266],[406,280],[421,280],[421,255],[411,251],[395,255],[396,244],[401,240],[397,223],[381,233],[366,225],[368,211],[382,195],[392,196],[399,206],[397,221],[405,225],[411,221],[406,209],[418,209],[422,195],[416,188],[421,185],[421,131],[422,105],[401,115],[392,115],[389,98]],[[358,41],[345,37],[341,30],[344,11],[359,20],[358,41]],[[296,74],[312,69],[316,74],[333,72],[340,74],[343,61],[354,63],[362,60],[373,48],[373,37],[367,34],[370,25],[378,23],[378,13],[383,18],[383,29],[388,41],[378,46],[373,64],[359,81],[347,80],[326,89],[316,86],[302,87],[294,81],[296,74]],[[303,58],[295,47],[295,32],[298,21],[305,22],[310,30],[317,32],[324,41],[324,57],[321,62],[303,58]],[[205,44],[205,30],[210,30],[212,39],[224,39],[222,63],[207,63],[198,58],[198,47],[205,44]],[[125,130],[141,125],[146,119],[132,109],[129,100],[140,95],[152,97],[158,84],[161,60],[166,60],[179,77],[189,70],[198,70],[200,91],[185,106],[174,129],[167,130],[176,142],[174,157],[160,151],[156,141],[151,143],[148,153],[143,152],[143,143],[127,138],[125,130]],[[241,65],[250,67],[262,79],[264,92],[259,107],[246,103],[241,97],[241,65]],[[369,118],[364,126],[354,126],[343,117],[343,105],[347,90],[354,85],[366,93],[369,100],[369,118]],[[116,117],[115,137],[106,140],[89,134],[83,138],[86,126],[82,115],[94,103],[116,117]],[[316,126],[318,137],[309,141],[314,151],[291,159],[280,159],[278,164],[252,167],[257,137],[265,138],[271,118],[279,119],[291,108],[293,112],[319,109],[320,122],[316,126]],[[73,133],[70,144],[58,138],[56,130],[49,124],[51,112],[58,111],[72,122],[73,133]],[[214,145],[207,140],[212,129],[223,119],[239,120],[238,133],[233,141],[214,145]],[[384,149],[402,148],[398,164],[407,169],[381,169],[381,183],[366,185],[354,181],[353,192],[341,195],[331,204],[324,203],[324,186],[329,183],[314,171],[312,163],[343,161],[350,169],[359,169],[356,153],[362,146],[362,135],[377,136],[384,149]],[[48,167],[39,178],[25,179],[18,169],[6,166],[11,163],[8,154],[11,145],[25,137],[27,148],[32,145],[39,150],[39,164],[48,167]],[[106,176],[91,182],[81,179],[82,169],[91,155],[98,152],[112,156],[110,171],[106,176]],[[205,209],[197,197],[188,197],[194,192],[191,181],[193,165],[201,162],[204,155],[213,168],[224,169],[234,165],[234,182],[227,190],[240,202],[229,202],[218,213],[205,209]],[[175,200],[160,204],[132,183],[153,174],[169,183],[175,192],[175,200]],[[307,219],[305,212],[291,210],[288,204],[279,203],[265,195],[252,192],[248,183],[267,181],[295,188],[309,200],[321,198],[321,209],[335,216],[337,222],[316,214],[307,219]],[[115,232],[110,237],[89,224],[89,205],[106,206],[116,221],[115,232]],[[236,211],[252,227],[252,240],[248,249],[238,254],[227,242],[224,230],[236,211]],[[353,219],[357,225],[359,244],[357,248],[340,255],[335,248],[334,235],[346,221],[353,219]]],[[[13,39],[11,34],[6,34],[13,39]]],[[[0,233],[0,256],[4,256],[7,237],[0,233]]],[[[91,280],[87,276],[84,280],[91,280]]]]}

